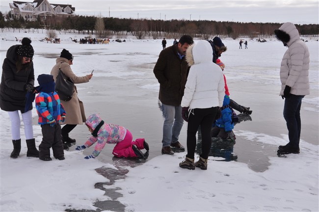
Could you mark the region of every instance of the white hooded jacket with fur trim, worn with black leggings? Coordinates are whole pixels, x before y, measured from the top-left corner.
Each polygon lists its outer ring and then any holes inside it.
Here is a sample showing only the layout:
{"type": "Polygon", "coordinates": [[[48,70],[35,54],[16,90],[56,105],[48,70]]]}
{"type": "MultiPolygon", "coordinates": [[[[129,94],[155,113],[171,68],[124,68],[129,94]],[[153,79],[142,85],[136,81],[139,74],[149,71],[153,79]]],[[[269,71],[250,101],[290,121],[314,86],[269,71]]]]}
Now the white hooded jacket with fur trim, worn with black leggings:
{"type": "Polygon", "coordinates": [[[186,61],[190,66],[181,106],[190,109],[222,106],[225,83],[221,69],[213,63],[209,42],[200,40],[188,47],[186,61]]]}

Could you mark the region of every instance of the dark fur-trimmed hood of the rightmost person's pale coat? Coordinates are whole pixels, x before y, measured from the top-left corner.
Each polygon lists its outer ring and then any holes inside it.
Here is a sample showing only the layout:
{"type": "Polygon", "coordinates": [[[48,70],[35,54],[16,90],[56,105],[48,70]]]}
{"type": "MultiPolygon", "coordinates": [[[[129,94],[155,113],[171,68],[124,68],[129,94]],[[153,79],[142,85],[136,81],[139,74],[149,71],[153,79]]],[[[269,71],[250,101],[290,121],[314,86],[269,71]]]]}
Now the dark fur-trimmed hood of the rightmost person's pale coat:
{"type": "Polygon", "coordinates": [[[278,40],[288,46],[291,46],[294,41],[300,40],[297,28],[290,22],[283,24],[279,29],[275,29],[275,34],[278,40]]]}

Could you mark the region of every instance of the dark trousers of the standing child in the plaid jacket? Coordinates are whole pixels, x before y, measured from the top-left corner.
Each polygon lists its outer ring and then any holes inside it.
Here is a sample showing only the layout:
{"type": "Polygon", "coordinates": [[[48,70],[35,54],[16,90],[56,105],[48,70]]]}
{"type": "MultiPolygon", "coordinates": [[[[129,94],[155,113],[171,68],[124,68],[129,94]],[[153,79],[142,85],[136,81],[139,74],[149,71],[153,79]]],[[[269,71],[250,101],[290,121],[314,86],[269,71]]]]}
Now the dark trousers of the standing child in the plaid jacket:
{"type": "Polygon", "coordinates": [[[41,125],[42,142],[39,145],[39,158],[50,158],[50,148],[53,150],[54,158],[61,158],[64,156],[63,143],[61,137],[61,126],[55,124],[53,127],[50,124],[41,125]]]}

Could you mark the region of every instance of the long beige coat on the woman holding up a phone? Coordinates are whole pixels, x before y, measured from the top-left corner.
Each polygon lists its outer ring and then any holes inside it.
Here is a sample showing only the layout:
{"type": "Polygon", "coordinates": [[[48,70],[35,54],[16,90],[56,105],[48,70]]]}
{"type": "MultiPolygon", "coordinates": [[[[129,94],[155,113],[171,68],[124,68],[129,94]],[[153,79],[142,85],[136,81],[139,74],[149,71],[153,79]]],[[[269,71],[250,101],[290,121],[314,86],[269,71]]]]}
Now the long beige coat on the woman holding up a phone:
{"type": "MultiPolygon", "coordinates": [[[[76,76],[71,66],[69,65],[69,60],[63,57],[59,57],[56,59],[56,64],[53,66],[51,70],[51,75],[53,75],[53,79],[55,81],[56,75],[59,72],[59,67],[61,66],[61,71],[65,76],[71,78],[75,84],[88,82],[88,76],[85,77],[78,77],[76,76]]],[[[72,124],[72,125],[81,125],[83,122],[86,121],[85,113],[84,113],[84,106],[83,103],[78,98],[78,91],[77,87],[74,86],[74,93],[72,95],[72,99],[70,101],[62,101],[61,104],[63,105],[66,116],[65,121],[61,124],[72,124]]]]}

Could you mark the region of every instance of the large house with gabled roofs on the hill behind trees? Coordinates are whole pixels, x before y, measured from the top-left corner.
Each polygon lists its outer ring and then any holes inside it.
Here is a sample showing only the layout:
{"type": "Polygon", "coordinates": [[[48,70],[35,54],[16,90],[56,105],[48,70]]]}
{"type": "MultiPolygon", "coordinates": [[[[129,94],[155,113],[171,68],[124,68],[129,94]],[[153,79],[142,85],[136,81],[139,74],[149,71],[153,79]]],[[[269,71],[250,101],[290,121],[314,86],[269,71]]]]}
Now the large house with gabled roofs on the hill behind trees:
{"type": "Polygon", "coordinates": [[[45,20],[48,16],[69,16],[75,13],[75,7],[71,4],[52,4],[48,0],[13,1],[9,6],[11,18],[22,16],[28,21],[35,21],[38,16],[41,20],[45,20]]]}

